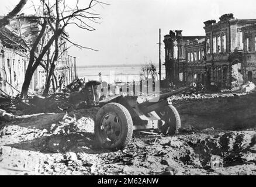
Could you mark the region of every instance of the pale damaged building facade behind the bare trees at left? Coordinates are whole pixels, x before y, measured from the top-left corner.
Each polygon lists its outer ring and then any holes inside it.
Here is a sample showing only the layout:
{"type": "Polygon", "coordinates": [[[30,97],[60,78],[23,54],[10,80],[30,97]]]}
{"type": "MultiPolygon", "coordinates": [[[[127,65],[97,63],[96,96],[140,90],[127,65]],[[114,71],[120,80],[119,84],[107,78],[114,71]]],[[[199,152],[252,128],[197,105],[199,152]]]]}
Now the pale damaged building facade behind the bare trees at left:
{"type": "MultiPolygon", "coordinates": [[[[22,84],[25,78],[26,67],[29,63],[29,48],[33,45],[37,33],[40,30],[40,25],[34,19],[18,19],[12,20],[10,25],[0,28],[0,88],[10,96],[16,96],[22,89],[22,84]]],[[[68,35],[67,35],[68,37],[68,35]]],[[[48,39],[44,37],[41,43],[46,43],[48,39]]],[[[53,56],[54,45],[51,47],[53,56]]],[[[68,85],[75,79],[76,75],[76,58],[68,55],[67,43],[64,39],[60,39],[60,57],[56,62],[54,85],[62,82],[68,85]]],[[[41,50],[39,45],[37,51],[41,50]]],[[[47,67],[49,56],[43,58],[42,64],[47,67]]],[[[49,64],[48,64],[49,65],[49,64]]],[[[43,66],[37,67],[33,74],[30,83],[30,89],[37,91],[44,89],[46,84],[47,71],[43,66]]]]}

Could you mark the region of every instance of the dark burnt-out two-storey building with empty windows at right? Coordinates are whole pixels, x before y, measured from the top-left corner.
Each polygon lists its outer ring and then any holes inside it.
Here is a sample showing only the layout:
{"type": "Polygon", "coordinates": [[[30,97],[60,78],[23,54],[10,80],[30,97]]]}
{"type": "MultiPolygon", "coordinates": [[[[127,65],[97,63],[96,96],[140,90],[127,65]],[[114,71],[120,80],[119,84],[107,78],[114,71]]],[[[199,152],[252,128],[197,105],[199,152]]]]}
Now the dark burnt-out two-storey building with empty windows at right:
{"type": "Polygon", "coordinates": [[[208,20],[205,36],[182,36],[181,30],[165,36],[167,81],[200,81],[222,88],[255,83],[256,19],[235,19],[233,14],[208,20]]]}

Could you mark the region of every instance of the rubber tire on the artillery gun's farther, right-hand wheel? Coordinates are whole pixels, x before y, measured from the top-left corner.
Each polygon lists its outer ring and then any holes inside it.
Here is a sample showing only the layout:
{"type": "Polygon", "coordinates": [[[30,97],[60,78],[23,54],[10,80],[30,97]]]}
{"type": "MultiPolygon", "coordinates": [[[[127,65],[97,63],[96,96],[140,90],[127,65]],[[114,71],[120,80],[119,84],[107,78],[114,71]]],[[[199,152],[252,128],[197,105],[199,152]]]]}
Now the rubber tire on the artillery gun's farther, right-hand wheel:
{"type": "MultiPolygon", "coordinates": [[[[164,124],[162,127],[160,127],[161,133],[171,136],[177,134],[178,130],[181,128],[181,117],[179,116],[177,109],[172,105],[165,106],[164,109],[169,110],[169,118],[171,119],[171,122],[168,122],[167,125],[164,124]]],[[[159,110],[157,114],[161,118],[160,112],[161,110],[159,110]]],[[[158,124],[160,123],[161,121],[158,122],[158,124]]]]}

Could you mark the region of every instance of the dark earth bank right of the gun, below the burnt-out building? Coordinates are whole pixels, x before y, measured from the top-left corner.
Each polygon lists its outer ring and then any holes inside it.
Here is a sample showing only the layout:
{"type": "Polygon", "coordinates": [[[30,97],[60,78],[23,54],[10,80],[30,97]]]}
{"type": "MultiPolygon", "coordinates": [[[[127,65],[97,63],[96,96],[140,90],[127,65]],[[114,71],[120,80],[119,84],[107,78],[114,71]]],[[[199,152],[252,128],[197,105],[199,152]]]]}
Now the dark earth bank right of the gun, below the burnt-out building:
{"type": "MultiPolygon", "coordinates": [[[[214,95],[213,95],[214,96],[214,95]]],[[[199,129],[239,130],[255,126],[256,93],[212,97],[207,99],[172,100],[183,126],[199,129]]]]}

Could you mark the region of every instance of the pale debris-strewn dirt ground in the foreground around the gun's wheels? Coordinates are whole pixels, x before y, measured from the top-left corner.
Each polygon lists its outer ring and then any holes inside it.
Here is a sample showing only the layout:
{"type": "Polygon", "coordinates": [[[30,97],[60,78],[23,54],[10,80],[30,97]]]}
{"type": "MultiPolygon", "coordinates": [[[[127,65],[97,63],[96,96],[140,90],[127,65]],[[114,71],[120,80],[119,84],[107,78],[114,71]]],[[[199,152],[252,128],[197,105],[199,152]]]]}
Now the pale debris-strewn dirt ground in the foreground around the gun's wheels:
{"type": "Polygon", "coordinates": [[[113,152],[101,150],[94,140],[97,111],[75,110],[45,126],[4,123],[0,174],[256,175],[256,126],[202,129],[186,117],[176,136],[134,132],[126,150],[113,152]]]}

